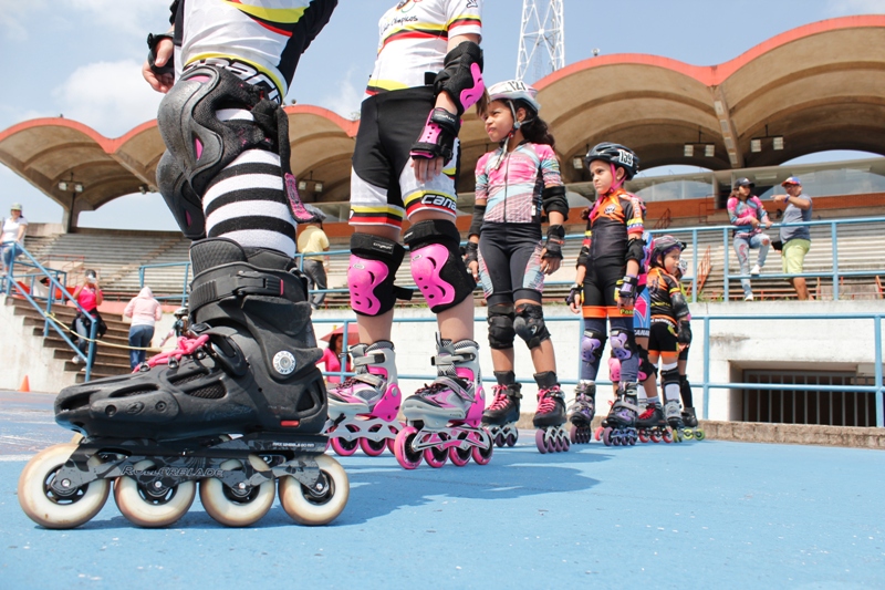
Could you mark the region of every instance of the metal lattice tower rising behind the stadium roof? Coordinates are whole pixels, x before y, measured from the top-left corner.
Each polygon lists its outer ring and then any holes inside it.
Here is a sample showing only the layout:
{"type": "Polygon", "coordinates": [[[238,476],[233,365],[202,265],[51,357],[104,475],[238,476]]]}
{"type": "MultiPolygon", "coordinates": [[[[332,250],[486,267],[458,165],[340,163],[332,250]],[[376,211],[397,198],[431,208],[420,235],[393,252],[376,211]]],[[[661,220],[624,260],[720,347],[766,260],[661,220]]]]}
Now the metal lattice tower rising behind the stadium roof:
{"type": "Polygon", "coordinates": [[[562,1],[522,0],[517,80],[534,82],[565,65],[562,1]]]}

